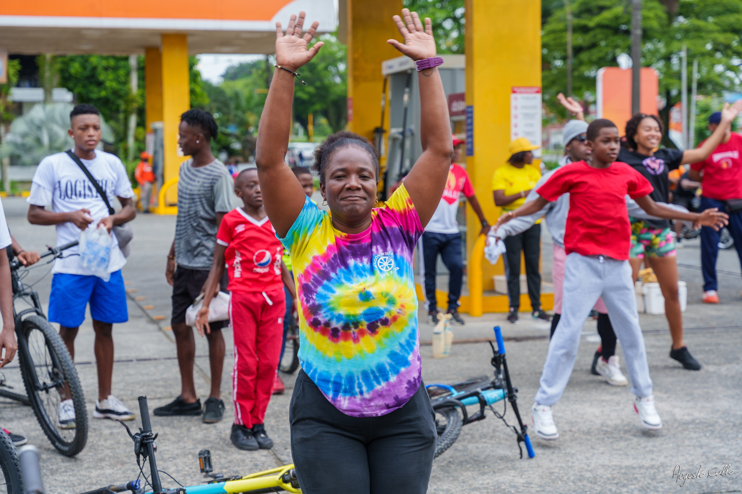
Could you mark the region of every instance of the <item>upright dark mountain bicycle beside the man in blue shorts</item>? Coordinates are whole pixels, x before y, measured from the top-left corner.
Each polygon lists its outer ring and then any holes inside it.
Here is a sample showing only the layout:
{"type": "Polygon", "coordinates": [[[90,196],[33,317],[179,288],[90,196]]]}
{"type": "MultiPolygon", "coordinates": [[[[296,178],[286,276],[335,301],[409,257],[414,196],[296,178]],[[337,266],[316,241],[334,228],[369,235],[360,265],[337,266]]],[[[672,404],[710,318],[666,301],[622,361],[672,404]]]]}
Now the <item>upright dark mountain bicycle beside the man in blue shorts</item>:
{"type": "MultiPolygon", "coordinates": [[[[77,241],[73,241],[49,247],[41,257],[51,256],[46,263],[49,264],[76,245],[77,241]]],[[[39,293],[33,290],[33,284],[23,283],[30,269],[35,268],[21,270],[22,267],[17,258],[10,262],[19,367],[26,395],[6,390],[12,388],[0,375],[0,396],[30,405],[53,447],[65,456],[74,456],[88,441],[88,412],[82,385],[65,342],[47,321],[39,293]],[[28,307],[24,308],[23,304],[28,307]],[[59,409],[65,399],[72,400],[74,421],[60,421],[59,409]]]]}

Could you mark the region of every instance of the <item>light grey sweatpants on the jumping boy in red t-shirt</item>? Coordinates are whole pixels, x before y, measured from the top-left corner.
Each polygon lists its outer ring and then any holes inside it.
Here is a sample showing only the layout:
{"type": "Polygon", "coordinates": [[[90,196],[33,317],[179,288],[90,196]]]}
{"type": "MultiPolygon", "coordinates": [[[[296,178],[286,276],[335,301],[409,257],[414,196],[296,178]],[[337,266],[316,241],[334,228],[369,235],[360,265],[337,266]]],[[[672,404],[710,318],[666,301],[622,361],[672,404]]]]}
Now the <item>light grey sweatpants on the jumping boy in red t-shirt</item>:
{"type": "Polygon", "coordinates": [[[536,403],[551,406],[562,397],[580,347],[582,327],[598,297],[603,297],[611,325],[621,342],[631,393],[642,398],[652,394],[631,265],[628,261],[573,252],[565,263],[562,317],[549,343],[536,403]]]}

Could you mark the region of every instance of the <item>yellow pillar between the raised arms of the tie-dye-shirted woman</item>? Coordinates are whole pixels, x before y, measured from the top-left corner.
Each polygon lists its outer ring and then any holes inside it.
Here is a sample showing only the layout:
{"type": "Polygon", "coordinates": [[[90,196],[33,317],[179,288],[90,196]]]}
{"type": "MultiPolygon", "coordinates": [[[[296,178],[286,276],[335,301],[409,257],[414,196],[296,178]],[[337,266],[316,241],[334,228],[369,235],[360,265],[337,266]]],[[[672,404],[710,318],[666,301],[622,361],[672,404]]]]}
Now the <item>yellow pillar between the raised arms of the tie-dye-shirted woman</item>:
{"type": "Polygon", "coordinates": [[[387,44],[387,39],[401,40],[392,21],[401,10],[401,0],[347,0],[347,128],[372,142],[373,130],[381,123],[381,62],[401,55],[387,44]]]}

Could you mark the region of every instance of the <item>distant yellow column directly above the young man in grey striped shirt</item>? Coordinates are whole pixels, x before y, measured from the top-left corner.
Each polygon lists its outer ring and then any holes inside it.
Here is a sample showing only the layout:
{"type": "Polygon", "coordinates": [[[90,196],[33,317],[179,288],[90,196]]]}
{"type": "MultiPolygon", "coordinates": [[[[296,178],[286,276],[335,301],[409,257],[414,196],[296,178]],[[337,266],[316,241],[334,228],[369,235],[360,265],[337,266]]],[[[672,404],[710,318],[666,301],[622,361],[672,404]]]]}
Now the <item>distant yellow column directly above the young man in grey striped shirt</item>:
{"type": "MultiPolygon", "coordinates": [[[[188,79],[188,36],[162,35],[162,141],[165,147],[165,183],[178,176],[185,157],[178,148],[180,115],[191,107],[188,79]]],[[[171,187],[165,196],[168,204],[177,201],[177,188],[171,187]]]]}

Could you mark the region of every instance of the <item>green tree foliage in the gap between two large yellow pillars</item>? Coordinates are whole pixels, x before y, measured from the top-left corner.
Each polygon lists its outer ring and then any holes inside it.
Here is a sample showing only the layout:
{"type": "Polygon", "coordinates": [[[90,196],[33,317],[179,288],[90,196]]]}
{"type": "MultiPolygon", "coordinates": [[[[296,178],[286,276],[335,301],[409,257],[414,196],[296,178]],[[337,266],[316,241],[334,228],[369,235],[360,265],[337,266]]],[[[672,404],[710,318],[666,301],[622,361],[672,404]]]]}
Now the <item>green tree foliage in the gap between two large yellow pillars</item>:
{"type": "Polygon", "coordinates": [[[430,17],[438,53],[464,53],[464,0],[402,0],[402,5],[430,17]]]}

